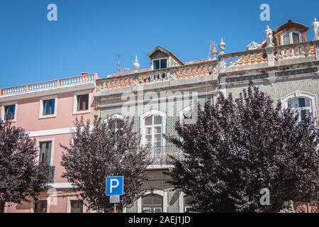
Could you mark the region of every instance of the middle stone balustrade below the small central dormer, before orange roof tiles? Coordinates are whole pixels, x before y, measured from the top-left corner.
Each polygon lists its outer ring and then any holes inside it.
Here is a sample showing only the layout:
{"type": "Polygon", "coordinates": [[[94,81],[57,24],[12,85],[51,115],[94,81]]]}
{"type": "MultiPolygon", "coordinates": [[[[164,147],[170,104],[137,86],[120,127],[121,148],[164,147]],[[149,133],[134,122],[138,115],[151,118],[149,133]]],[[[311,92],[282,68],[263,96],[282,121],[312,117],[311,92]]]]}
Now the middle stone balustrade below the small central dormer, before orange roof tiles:
{"type": "Polygon", "coordinates": [[[97,91],[121,89],[135,85],[146,85],[169,80],[189,79],[218,74],[217,60],[189,63],[178,67],[169,67],[162,70],[149,70],[145,72],[132,72],[125,75],[118,74],[113,77],[96,80],[97,91]]]}

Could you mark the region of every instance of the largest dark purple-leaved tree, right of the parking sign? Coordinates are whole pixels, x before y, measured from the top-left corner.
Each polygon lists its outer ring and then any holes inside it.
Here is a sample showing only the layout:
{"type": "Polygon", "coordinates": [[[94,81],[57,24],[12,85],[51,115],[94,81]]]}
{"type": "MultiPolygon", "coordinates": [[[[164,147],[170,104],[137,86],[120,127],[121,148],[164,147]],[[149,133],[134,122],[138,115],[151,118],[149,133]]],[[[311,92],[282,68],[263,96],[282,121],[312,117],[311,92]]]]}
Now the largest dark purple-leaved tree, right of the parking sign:
{"type": "MultiPolygon", "coordinates": [[[[303,113],[303,111],[301,111],[303,113]]],[[[194,124],[177,123],[183,151],[167,172],[204,212],[278,212],[289,201],[318,201],[318,125],[283,109],[250,84],[239,98],[219,94],[198,106],[194,124]],[[262,189],[270,204],[261,203],[262,189]]]]}

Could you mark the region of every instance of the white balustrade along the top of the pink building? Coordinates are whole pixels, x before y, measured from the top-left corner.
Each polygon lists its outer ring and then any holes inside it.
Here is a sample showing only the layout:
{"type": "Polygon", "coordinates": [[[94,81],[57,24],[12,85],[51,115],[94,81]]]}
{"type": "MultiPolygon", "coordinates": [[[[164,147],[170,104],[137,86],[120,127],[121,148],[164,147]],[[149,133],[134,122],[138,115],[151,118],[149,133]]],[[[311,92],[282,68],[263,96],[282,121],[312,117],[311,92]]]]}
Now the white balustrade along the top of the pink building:
{"type": "Polygon", "coordinates": [[[82,74],[77,77],[68,77],[64,79],[55,79],[47,82],[39,82],[34,84],[26,84],[17,87],[8,87],[0,89],[0,95],[10,95],[10,94],[21,94],[26,92],[35,92],[40,90],[47,90],[57,87],[66,87],[74,84],[83,84],[94,82],[96,79],[96,74],[82,74]]]}

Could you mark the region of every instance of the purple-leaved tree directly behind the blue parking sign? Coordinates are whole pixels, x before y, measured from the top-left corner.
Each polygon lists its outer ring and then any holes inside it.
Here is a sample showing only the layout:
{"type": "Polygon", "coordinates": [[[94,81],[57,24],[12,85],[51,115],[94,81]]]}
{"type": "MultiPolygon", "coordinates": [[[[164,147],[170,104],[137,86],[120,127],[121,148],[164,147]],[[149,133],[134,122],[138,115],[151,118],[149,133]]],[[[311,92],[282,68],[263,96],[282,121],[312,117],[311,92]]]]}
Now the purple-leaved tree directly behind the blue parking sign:
{"type": "Polygon", "coordinates": [[[140,137],[133,131],[134,121],[128,118],[109,119],[101,123],[95,117],[93,128],[83,118],[75,121],[76,131],[66,151],[61,165],[65,167],[65,177],[77,192],[79,199],[89,209],[113,211],[113,204],[106,196],[106,177],[124,177],[124,195],[120,208],[128,207],[144,191],[142,184],[147,180],[145,170],[150,164],[147,149],[140,148],[140,137]]]}

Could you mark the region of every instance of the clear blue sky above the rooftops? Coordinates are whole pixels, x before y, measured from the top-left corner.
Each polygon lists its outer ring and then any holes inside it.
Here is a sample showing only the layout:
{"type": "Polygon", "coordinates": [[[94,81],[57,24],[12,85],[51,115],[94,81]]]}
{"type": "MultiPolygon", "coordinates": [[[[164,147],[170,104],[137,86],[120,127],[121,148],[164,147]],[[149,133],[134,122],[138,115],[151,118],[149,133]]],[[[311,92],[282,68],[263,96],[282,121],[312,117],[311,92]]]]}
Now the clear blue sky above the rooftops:
{"type": "Polygon", "coordinates": [[[264,29],[288,19],[310,26],[319,1],[203,0],[0,0],[0,87],[97,72],[116,72],[117,56],[141,68],[155,45],[182,61],[208,57],[209,41],[223,36],[225,52],[264,40],[264,29]],[[47,21],[57,4],[58,21],[47,21]],[[270,5],[271,21],[260,21],[259,6],[270,5]]]}

